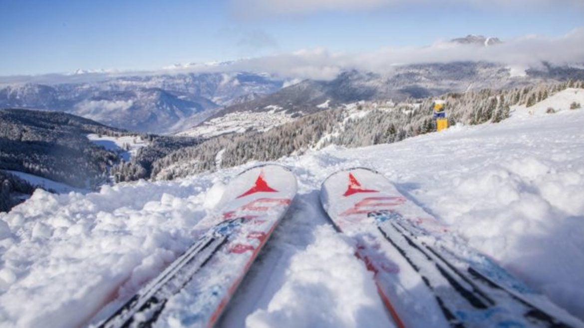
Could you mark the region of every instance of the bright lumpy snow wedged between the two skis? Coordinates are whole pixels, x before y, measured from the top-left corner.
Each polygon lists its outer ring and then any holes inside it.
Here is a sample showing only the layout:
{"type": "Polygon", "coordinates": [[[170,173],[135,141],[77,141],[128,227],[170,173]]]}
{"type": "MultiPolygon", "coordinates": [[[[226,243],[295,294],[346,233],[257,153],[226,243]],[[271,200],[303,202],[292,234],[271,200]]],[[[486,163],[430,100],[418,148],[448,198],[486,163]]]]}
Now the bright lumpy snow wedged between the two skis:
{"type": "Polygon", "coordinates": [[[297,253],[285,283],[267,309],[246,319],[248,327],[391,326],[373,283],[354,248],[330,226],[318,227],[315,242],[297,253]]]}

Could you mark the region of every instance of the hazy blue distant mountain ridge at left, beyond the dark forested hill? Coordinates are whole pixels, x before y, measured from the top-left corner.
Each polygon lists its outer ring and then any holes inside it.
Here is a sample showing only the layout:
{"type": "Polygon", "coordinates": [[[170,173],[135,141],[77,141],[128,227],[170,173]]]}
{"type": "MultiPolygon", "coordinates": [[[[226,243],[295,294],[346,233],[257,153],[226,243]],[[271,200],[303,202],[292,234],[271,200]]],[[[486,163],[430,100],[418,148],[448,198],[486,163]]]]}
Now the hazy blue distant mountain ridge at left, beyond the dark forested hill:
{"type": "Polygon", "coordinates": [[[165,133],[179,122],[250,94],[279,90],[283,80],[259,73],[179,73],[112,77],[96,82],[13,84],[0,108],[58,110],[117,128],[165,133]]]}

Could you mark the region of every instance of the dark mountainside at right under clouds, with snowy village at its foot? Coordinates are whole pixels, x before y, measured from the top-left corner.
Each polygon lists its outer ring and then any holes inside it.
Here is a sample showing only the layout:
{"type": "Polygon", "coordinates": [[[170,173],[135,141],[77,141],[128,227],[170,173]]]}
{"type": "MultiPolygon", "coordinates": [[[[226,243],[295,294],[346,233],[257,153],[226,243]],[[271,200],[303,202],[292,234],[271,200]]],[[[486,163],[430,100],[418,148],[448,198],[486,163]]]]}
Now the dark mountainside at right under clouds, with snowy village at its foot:
{"type": "Polygon", "coordinates": [[[514,76],[512,69],[502,64],[451,62],[394,66],[385,73],[349,70],[330,81],[304,80],[271,94],[233,103],[217,110],[206,121],[183,129],[180,135],[210,137],[249,129],[265,131],[274,122],[283,124],[290,118],[358,101],[399,102],[568,79],[584,79],[584,69],[544,63],[543,68],[527,69],[524,75],[514,76]]]}

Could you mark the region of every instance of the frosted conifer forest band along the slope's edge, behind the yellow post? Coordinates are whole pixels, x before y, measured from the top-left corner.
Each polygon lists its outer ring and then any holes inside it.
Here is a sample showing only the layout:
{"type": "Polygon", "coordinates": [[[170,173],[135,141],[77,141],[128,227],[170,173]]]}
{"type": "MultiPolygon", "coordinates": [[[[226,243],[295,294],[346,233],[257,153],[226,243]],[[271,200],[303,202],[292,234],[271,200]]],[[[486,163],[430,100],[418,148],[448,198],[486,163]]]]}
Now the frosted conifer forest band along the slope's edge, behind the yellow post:
{"type": "MultiPolygon", "coordinates": [[[[526,104],[529,107],[566,87],[584,87],[584,82],[538,84],[507,90],[483,89],[448,93],[439,98],[447,102],[450,125],[475,125],[502,121],[509,117],[512,105],[526,104]]],[[[307,115],[263,133],[215,137],[156,160],[150,178],[173,179],[250,160],[275,160],[329,144],[360,147],[397,142],[435,131],[430,108],[434,99],[408,100],[398,104],[359,102],[307,115]]]]}

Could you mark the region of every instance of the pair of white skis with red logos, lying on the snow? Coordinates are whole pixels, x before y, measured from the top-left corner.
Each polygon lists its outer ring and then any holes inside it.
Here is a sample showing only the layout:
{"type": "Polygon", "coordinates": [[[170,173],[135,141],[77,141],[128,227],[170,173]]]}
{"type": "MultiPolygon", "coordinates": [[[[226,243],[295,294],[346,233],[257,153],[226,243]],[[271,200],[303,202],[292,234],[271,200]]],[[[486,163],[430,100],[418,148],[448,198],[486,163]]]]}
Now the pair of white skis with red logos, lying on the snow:
{"type": "MultiPolygon", "coordinates": [[[[296,195],[294,174],[261,165],[230,181],[197,241],[100,327],[213,326],[296,195]]],[[[322,206],[357,241],[400,327],[578,326],[581,323],[464,246],[383,175],[340,171],[322,206]]]]}

